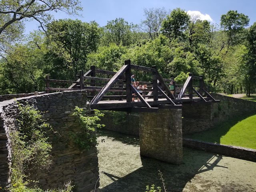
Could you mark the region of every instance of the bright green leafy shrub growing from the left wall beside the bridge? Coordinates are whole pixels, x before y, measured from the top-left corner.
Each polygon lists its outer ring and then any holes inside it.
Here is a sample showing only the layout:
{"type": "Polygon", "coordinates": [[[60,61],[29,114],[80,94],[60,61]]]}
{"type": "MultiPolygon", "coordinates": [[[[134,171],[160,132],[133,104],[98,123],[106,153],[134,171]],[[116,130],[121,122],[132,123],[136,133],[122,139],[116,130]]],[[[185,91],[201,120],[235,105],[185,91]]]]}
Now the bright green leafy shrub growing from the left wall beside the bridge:
{"type": "Polygon", "coordinates": [[[82,108],[76,106],[74,116],[78,116],[79,126],[82,128],[82,132],[70,133],[70,136],[74,140],[75,144],[78,144],[80,148],[88,150],[91,146],[95,146],[97,144],[97,138],[95,136],[96,128],[104,127],[104,124],[96,124],[97,121],[100,121],[99,117],[104,116],[99,110],[94,110],[93,116],[86,116],[83,112],[82,108]]]}

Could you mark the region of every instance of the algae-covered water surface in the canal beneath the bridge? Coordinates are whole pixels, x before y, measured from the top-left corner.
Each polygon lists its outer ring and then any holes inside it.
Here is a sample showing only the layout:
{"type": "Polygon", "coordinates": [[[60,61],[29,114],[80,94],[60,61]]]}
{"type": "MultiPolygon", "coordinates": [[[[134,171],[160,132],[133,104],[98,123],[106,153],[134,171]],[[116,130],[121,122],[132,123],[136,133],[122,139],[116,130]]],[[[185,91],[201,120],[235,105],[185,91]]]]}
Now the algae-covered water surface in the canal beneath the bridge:
{"type": "Polygon", "coordinates": [[[135,136],[100,130],[98,141],[101,192],[145,192],[151,184],[162,187],[158,170],[168,192],[256,191],[255,162],[184,148],[183,164],[173,165],[141,158],[135,136]]]}

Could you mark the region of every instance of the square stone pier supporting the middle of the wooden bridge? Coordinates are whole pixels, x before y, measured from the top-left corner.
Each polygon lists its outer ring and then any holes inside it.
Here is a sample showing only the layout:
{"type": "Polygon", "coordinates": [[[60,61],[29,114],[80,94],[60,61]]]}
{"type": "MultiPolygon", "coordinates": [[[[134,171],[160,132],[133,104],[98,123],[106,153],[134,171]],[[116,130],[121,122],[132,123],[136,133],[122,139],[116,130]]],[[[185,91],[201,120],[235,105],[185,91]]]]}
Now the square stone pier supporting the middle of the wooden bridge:
{"type": "Polygon", "coordinates": [[[174,164],[182,163],[182,110],[140,113],[140,154],[174,164]]]}

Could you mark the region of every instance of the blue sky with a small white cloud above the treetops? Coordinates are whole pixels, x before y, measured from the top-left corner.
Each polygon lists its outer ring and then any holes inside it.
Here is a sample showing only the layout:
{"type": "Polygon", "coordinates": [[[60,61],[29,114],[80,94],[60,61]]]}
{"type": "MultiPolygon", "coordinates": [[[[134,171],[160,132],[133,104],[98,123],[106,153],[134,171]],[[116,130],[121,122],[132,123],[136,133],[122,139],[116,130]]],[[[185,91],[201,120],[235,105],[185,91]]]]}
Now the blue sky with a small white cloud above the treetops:
{"type": "MultiPolygon", "coordinates": [[[[69,16],[64,12],[53,13],[54,19],[79,19],[82,22],[95,20],[100,26],[108,21],[124,18],[129,23],[140,24],[144,20],[144,8],[181,8],[188,14],[200,15],[212,24],[220,24],[220,17],[229,10],[237,10],[250,18],[249,26],[256,22],[256,0],[81,0],[81,16],[69,16]]],[[[38,29],[38,22],[26,22],[26,32],[38,29]]]]}

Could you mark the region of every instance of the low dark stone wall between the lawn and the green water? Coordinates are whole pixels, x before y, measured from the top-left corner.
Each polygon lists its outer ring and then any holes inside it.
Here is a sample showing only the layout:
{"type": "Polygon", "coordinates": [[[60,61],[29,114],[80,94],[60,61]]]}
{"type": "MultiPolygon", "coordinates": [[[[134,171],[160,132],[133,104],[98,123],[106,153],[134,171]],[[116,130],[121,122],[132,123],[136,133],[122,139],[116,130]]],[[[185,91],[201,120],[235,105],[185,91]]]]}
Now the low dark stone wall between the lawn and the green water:
{"type": "Polygon", "coordinates": [[[192,139],[183,139],[183,146],[207,152],[217,153],[238,159],[256,162],[256,150],[243,147],[213,144],[208,142],[196,141],[192,139]]]}

